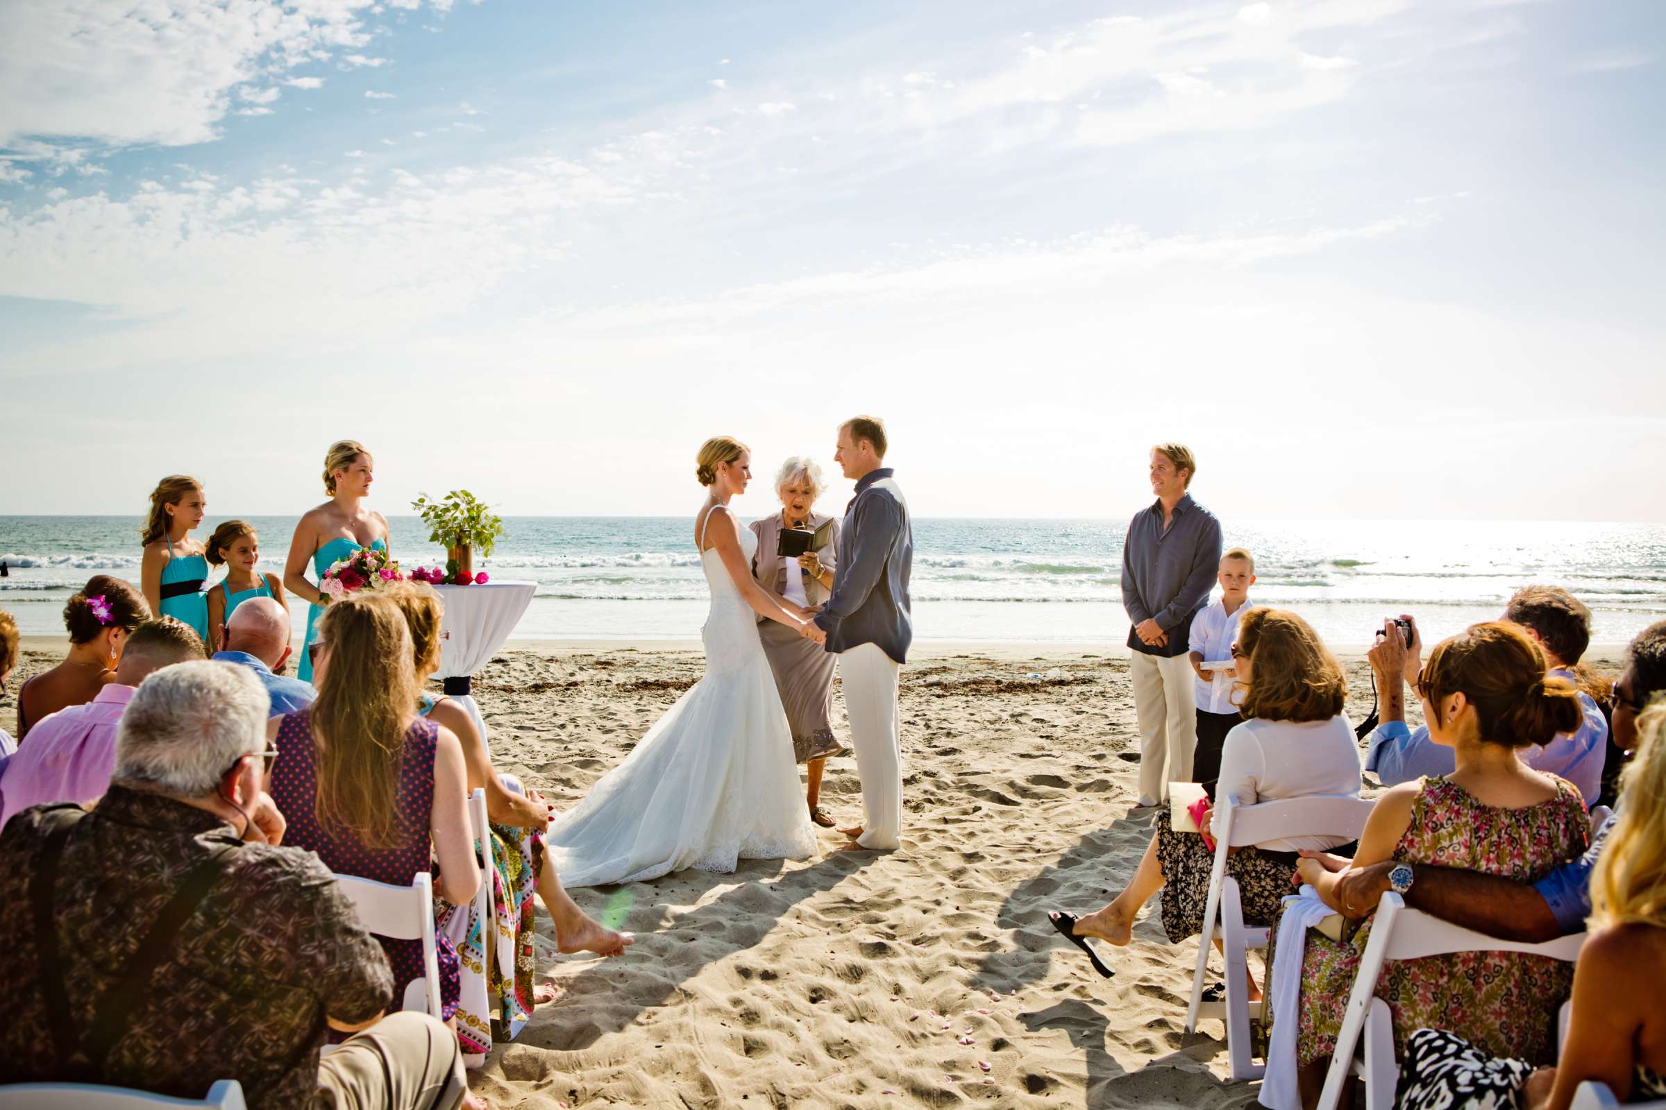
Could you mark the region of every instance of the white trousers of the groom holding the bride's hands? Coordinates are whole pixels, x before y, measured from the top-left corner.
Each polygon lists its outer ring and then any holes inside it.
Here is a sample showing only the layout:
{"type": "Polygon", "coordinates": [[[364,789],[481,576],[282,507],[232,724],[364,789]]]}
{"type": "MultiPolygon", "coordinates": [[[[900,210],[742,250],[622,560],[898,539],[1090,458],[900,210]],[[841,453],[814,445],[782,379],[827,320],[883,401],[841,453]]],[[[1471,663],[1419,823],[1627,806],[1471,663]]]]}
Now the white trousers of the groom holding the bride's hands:
{"type": "Polygon", "coordinates": [[[861,835],[865,849],[895,849],[903,829],[903,752],[896,731],[896,676],[900,667],[876,644],[858,644],[838,656],[845,681],[850,742],[856,749],[861,779],[861,835]]]}

